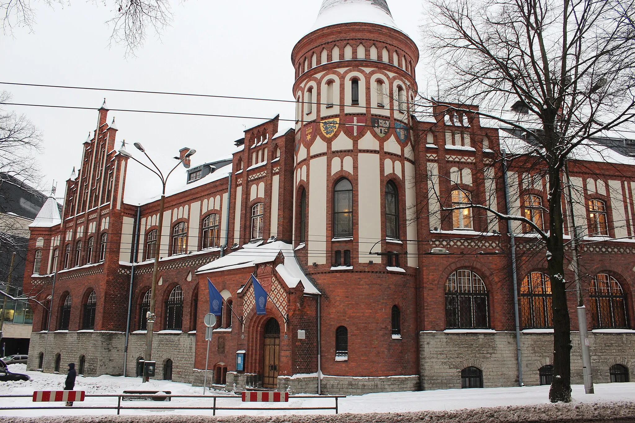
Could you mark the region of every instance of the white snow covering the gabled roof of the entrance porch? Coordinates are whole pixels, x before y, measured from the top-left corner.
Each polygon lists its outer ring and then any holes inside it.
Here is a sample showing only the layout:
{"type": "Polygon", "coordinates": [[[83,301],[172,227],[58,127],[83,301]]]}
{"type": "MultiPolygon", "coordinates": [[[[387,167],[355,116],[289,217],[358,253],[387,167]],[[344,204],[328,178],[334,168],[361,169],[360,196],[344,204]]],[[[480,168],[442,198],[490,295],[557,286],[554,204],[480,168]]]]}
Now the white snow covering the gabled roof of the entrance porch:
{"type": "Polygon", "coordinates": [[[260,263],[269,263],[274,261],[279,252],[284,256],[284,264],[278,264],[276,271],[284,283],[290,288],[295,288],[298,282],[302,281],[304,292],[307,294],[320,294],[319,290],[306,277],[300,264],[293,254],[293,245],[286,244],[282,241],[269,242],[269,244],[250,247],[247,244],[243,249],[231,252],[227,256],[220,257],[211,263],[205,264],[199,268],[197,273],[211,273],[217,271],[225,271],[232,269],[242,269],[255,266],[260,263]]]}

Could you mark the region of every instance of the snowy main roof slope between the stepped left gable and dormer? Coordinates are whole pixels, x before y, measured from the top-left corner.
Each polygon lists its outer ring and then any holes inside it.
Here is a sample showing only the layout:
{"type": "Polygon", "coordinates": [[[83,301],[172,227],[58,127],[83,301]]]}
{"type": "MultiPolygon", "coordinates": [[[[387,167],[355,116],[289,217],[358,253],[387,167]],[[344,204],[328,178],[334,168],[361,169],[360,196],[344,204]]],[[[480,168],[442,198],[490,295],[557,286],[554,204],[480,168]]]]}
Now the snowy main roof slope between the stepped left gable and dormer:
{"type": "MultiPolygon", "coordinates": [[[[148,162],[145,156],[135,151],[134,149],[128,150],[128,152],[139,160],[143,164],[147,165],[151,169],[154,166],[148,162]]],[[[223,159],[227,160],[228,157],[223,159]]],[[[152,160],[157,164],[161,172],[164,175],[168,174],[171,169],[178,163],[178,159],[173,157],[166,157],[164,155],[152,155],[152,160]]],[[[214,160],[217,162],[218,160],[214,160]]],[[[209,162],[208,162],[209,163],[209,162]]],[[[191,166],[190,168],[197,167],[191,166]]],[[[202,185],[206,185],[210,182],[218,181],[219,179],[226,178],[232,172],[232,165],[216,169],[214,172],[198,179],[195,182],[187,183],[187,169],[182,164],[179,164],[177,168],[170,174],[168,183],[166,185],[166,196],[174,195],[180,192],[191,190],[202,185]]],[[[132,205],[142,205],[154,202],[161,198],[161,181],[156,174],[152,174],[149,169],[135,162],[133,159],[128,160],[128,170],[126,171],[126,188],[124,191],[124,203],[132,205]]]]}

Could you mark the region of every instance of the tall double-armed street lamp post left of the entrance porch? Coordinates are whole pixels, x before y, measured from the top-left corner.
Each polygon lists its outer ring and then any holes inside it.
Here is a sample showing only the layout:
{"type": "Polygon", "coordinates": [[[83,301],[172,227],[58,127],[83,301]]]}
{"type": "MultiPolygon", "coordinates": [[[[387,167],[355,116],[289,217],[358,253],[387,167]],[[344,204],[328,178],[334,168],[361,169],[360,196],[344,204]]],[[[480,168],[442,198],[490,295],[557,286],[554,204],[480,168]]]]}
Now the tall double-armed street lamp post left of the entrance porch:
{"type": "Polygon", "coordinates": [[[150,159],[150,156],[148,155],[148,153],[145,152],[144,146],[142,146],[140,143],[135,143],[134,145],[137,148],[137,150],[144,153],[145,157],[147,157],[147,159],[150,160],[150,163],[152,163],[152,166],[154,166],[154,169],[152,169],[149,166],[146,166],[139,160],[132,157],[132,155],[128,153],[126,150],[124,150],[123,148],[119,150],[119,154],[123,155],[124,157],[128,157],[128,159],[135,160],[135,162],[145,167],[150,172],[156,174],[156,176],[158,176],[159,179],[161,179],[161,185],[163,186],[163,191],[161,192],[161,202],[159,202],[159,221],[158,221],[159,228],[157,229],[157,244],[156,244],[156,251],[154,254],[154,268],[152,269],[152,287],[150,288],[150,311],[148,311],[146,315],[147,327],[146,327],[146,336],[145,336],[144,379],[143,380],[144,382],[147,382],[150,380],[150,375],[149,375],[150,366],[148,365],[148,363],[152,359],[152,335],[154,334],[154,318],[156,317],[156,315],[154,314],[154,308],[156,304],[157,272],[159,270],[159,258],[161,255],[161,232],[163,230],[163,208],[165,205],[165,186],[168,181],[168,178],[170,178],[170,175],[172,174],[172,172],[175,169],[177,169],[178,165],[182,164],[185,159],[188,159],[189,157],[194,155],[194,153],[196,153],[196,150],[189,150],[189,152],[187,152],[185,156],[179,160],[179,162],[177,163],[177,166],[173,167],[166,176],[163,176],[163,172],[161,172],[161,169],[159,169],[159,167],[154,163],[154,161],[150,159]]]}

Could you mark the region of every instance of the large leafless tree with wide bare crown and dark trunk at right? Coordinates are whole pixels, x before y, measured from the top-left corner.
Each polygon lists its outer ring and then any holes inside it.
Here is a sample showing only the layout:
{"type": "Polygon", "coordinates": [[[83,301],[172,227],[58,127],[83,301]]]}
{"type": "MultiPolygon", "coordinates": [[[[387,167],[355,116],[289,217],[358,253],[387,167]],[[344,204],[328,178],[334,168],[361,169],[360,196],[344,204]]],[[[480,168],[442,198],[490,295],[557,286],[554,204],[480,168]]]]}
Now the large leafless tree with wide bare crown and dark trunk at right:
{"type": "MultiPolygon", "coordinates": [[[[458,113],[509,126],[548,180],[549,230],[523,216],[547,249],[552,283],[554,377],[551,401],[571,400],[570,318],[565,292],[563,171],[578,146],[635,114],[635,2],[632,0],[429,0],[424,25],[434,88],[458,113]],[[455,104],[452,104],[455,103],[455,104]],[[511,106],[520,113],[512,113],[511,106]]],[[[432,101],[429,96],[424,100],[432,101]]],[[[495,212],[486,204],[470,204],[495,212]]],[[[445,207],[444,210],[465,207],[445,207]]]]}

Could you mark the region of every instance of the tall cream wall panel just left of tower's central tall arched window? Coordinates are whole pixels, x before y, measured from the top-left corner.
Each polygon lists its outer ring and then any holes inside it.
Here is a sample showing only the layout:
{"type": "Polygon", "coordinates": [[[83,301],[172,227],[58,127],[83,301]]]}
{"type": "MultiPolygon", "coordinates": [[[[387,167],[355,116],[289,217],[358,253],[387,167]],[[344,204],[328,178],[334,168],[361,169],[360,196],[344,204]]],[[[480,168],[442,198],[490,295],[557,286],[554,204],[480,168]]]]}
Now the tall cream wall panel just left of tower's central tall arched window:
{"type": "Polygon", "coordinates": [[[326,264],[326,156],[311,159],[309,172],[309,264],[326,264]]]}

